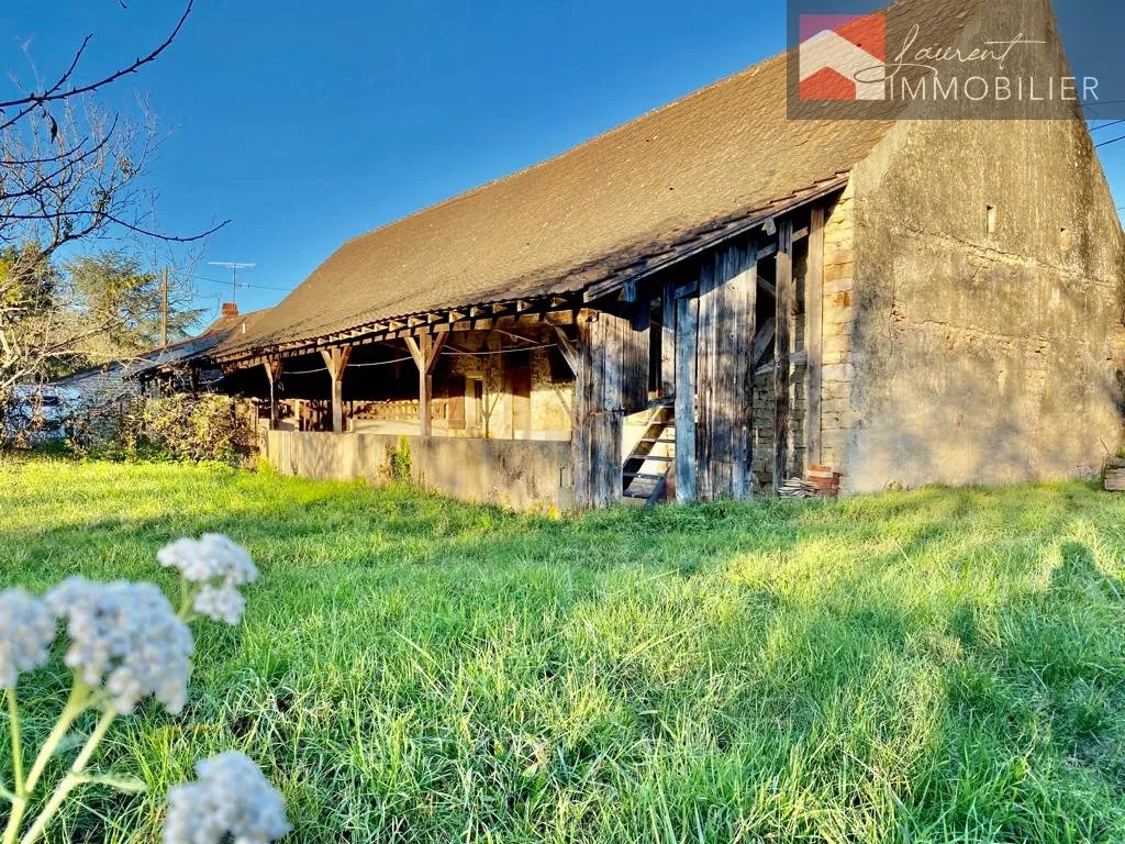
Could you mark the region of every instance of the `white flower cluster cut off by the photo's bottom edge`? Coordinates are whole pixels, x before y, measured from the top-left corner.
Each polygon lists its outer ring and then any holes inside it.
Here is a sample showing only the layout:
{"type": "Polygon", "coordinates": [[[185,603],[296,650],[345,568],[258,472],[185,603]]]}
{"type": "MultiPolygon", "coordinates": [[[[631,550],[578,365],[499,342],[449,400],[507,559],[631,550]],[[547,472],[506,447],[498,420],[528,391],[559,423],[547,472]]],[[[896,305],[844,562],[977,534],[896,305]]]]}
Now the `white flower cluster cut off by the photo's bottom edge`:
{"type": "Polygon", "coordinates": [[[289,832],[281,794],[241,753],[204,760],[196,774],[168,792],[164,844],[269,844],[289,832]]]}

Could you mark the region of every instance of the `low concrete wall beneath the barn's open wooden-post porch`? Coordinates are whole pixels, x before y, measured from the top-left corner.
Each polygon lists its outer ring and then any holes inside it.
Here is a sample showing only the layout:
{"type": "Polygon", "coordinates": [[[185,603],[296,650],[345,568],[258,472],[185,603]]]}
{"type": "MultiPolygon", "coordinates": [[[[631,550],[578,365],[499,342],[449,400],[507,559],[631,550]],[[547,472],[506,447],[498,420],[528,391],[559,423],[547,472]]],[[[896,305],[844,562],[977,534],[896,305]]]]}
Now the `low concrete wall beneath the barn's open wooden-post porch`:
{"type": "Polygon", "coordinates": [[[262,450],[282,475],[379,484],[403,439],[414,481],[428,490],[513,510],[574,506],[569,442],[269,431],[262,450]]]}

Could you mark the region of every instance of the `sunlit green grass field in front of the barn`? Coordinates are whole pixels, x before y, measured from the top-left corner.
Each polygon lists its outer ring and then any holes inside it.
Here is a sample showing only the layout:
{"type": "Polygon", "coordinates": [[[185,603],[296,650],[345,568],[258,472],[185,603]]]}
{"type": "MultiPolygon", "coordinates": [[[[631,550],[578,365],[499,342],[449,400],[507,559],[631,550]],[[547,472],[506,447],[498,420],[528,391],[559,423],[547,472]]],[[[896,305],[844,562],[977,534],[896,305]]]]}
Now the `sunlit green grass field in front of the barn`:
{"type": "MultiPolygon", "coordinates": [[[[53,842],[155,841],[168,785],[227,748],[281,789],[294,842],[1110,842],[1123,501],[549,521],[215,467],[0,464],[0,586],[170,585],[158,548],[202,531],[262,569],[243,628],[202,628],[188,711],[110,734],[99,764],[150,793],[89,787],[53,842]]],[[[56,664],[25,689],[46,712],[63,686],[56,664]]]]}

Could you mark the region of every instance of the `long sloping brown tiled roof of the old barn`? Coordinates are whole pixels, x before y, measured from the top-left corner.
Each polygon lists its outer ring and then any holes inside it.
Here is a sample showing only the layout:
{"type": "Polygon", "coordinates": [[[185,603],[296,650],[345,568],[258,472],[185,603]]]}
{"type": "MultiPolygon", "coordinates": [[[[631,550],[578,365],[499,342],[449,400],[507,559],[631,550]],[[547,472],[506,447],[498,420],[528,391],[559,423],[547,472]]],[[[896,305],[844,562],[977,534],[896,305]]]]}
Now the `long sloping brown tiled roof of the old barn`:
{"type": "Polygon", "coordinates": [[[788,119],[786,64],[785,54],[774,56],[544,163],[348,241],[215,357],[312,345],[429,312],[577,293],[655,257],[676,257],[732,221],[824,192],[891,124],[788,119]]]}

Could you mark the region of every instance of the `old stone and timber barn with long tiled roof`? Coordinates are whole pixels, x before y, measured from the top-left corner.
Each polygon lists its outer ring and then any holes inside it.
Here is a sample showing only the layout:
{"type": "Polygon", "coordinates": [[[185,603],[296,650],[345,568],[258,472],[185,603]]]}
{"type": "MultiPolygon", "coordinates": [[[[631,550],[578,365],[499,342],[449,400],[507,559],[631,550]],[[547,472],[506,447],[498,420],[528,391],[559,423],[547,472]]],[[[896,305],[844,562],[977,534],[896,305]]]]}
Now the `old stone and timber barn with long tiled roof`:
{"type": "Polygon", "coordinates": [[[1096,474],[1123,233],[1080,114],[791,119],[786,59],[348,241],[198,365],[280,472],[405,450],[519,508],[1096,474]]]}

